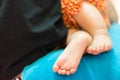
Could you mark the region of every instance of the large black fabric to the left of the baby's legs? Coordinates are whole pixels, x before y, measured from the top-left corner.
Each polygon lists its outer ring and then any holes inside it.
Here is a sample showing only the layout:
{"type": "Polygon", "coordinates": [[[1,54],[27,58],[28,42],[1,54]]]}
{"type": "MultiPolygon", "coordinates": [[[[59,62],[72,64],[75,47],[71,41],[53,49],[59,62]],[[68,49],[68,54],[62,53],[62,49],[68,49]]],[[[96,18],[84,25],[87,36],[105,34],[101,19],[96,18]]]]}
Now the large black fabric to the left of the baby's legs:
{"type": "Polygon", "coordinates": [[[59,0],[0,0],[0,80],[65,41],[59,0]]]}

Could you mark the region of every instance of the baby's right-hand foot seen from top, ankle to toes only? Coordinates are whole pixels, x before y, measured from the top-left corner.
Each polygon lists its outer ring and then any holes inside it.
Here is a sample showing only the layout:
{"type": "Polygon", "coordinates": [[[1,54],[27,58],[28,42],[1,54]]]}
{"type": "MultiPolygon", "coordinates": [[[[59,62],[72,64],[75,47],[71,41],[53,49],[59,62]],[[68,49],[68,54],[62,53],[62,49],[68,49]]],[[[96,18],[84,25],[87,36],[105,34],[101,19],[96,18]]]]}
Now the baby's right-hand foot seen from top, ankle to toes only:
{"type": "Polygon", "coordinates": [[[94,36],[92,44],[87,48],[87,53],[97,55],[104,51],[109,51],[112,47],[112,42],[109,34],[104,32],[94,36]]]}

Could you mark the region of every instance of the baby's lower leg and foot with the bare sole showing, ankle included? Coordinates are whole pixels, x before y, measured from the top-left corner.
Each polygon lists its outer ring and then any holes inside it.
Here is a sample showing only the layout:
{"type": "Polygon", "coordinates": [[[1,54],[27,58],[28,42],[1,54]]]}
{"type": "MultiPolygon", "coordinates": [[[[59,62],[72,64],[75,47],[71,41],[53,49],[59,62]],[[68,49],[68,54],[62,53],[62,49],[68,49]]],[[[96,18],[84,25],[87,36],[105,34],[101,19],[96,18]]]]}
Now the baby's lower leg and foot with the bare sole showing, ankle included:
{"type": "Polygon", "coordinates": [[[69,29],[67,47],[55,62],[53,71],[63,75],[75,73],[84,51],[91,41],[92,37],[88,33],[69,29]]]}

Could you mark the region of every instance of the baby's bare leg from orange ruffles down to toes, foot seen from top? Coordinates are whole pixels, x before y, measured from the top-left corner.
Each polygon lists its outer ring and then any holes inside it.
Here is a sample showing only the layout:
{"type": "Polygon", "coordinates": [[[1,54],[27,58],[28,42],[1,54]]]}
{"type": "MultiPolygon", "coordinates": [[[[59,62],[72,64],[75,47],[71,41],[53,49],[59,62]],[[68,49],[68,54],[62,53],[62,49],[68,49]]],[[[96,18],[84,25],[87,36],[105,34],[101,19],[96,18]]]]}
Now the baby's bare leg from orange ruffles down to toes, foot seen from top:
{"type": "Polygon", "coordinates": [[[112,43],[108,28],[96,7],[84,1],[78,14],[73,15],[73,17],[81,28],[89,32],[93,37],[93,42],[87,49],[88,53],[95,55],[111,49],[112,43]]]}

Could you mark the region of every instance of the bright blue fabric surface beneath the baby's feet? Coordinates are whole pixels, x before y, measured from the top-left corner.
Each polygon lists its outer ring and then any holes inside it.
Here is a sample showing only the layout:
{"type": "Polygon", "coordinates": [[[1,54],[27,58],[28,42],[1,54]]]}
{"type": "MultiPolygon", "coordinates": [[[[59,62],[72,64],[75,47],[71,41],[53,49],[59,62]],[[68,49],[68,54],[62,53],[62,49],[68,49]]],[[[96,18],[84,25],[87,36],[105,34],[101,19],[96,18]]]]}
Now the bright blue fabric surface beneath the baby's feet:
{"type": "Polygon", "coordinates": [[[63,51],[57,50],[25,67],[22,80],[120,80],[120,25],[112,24],[109,32],[112,50],[97,56],[84,55],[75,74],[63,76],[52,71],[63,51]]]}

